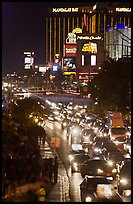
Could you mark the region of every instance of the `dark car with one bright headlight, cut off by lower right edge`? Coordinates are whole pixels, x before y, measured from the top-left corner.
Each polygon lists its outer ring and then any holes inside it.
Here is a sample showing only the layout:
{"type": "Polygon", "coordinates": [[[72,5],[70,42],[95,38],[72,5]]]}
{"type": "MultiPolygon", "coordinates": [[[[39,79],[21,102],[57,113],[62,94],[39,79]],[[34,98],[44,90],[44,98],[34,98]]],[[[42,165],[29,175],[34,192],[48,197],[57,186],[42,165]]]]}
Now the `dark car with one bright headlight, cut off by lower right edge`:
{"type": "Polygon", "coordinates": [[[118,177],[118,192],[123,194],[124,190],[131,190],[131,159],[123,161],[118,177]]]}

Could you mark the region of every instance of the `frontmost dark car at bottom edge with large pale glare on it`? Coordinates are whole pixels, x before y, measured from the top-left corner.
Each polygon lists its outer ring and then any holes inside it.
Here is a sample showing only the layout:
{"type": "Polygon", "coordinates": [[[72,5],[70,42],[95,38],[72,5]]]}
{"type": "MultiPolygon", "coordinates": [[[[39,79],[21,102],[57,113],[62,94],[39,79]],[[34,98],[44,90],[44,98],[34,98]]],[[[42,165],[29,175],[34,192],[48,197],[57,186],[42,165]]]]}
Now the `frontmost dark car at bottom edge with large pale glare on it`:
{"type": "Polygon", "coordinates": [[[110,181],[102,176],[85,176],[80,195],[81,202],[123,202],[110,181]]]}

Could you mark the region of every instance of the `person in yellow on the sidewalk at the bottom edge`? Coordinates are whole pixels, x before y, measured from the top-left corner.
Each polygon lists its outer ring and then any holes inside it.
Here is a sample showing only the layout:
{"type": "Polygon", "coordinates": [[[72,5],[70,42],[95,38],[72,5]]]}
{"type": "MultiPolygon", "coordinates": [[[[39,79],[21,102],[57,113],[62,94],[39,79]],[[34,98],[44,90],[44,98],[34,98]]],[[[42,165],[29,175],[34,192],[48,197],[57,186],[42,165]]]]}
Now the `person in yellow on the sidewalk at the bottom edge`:
{"type": "Polygon", "coordinates": [[[46,201],[46,190],[43,184],[40,185],[40,188],[37,190],[36,195],[38,202],[46,201]]]}

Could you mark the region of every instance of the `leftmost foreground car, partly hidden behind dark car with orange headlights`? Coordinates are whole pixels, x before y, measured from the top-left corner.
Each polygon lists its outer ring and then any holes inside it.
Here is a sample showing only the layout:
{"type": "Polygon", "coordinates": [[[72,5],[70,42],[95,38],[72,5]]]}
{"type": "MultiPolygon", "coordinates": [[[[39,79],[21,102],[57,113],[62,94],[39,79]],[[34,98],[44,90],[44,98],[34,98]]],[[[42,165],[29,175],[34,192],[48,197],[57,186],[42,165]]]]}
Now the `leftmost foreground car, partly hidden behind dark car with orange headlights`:
{"type": "Polygon", "coordinates": [[[71,161],[71,172],[80,172],[80,166],[83,162],[90,159],[88,154],[75,154],[71,161]]]}

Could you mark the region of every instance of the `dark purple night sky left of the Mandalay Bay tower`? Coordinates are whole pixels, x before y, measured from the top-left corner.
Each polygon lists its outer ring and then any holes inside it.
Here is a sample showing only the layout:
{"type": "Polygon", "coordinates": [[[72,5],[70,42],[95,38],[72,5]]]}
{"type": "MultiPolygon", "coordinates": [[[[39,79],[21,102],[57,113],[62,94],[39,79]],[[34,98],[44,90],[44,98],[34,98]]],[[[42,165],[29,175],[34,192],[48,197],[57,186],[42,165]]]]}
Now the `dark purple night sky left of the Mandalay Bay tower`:
{"type": "Polygon", "coordinates": [[[2,73],[24,70],[24,51],[45,64],[45,18],[48,7],[80,6],[75,2],[2,2],[2,73]]]}

